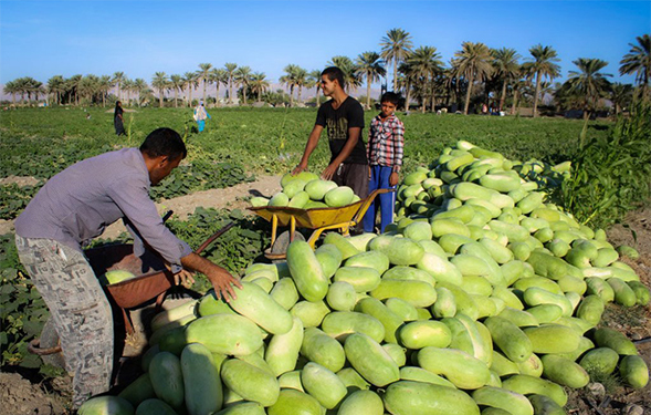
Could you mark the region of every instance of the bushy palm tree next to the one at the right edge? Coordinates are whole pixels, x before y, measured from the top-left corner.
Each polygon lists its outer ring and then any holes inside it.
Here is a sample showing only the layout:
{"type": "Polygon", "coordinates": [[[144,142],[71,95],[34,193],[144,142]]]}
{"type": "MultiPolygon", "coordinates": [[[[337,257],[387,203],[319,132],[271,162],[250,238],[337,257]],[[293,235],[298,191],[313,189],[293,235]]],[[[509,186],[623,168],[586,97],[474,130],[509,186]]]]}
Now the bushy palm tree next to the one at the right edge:
{"type": "Polygon", "coordinates": [[[608,62],[600,59],[579,58],[573,62],[579,69],[569,71],[569,77],[566,81],[569,89],[579,93],[584,97],[584,120],[590,117],[590,111],[596,110],[599,98],[610,87],[610,82],[606,76],[612,76],[608,73],[600,73],[608,62]]]}

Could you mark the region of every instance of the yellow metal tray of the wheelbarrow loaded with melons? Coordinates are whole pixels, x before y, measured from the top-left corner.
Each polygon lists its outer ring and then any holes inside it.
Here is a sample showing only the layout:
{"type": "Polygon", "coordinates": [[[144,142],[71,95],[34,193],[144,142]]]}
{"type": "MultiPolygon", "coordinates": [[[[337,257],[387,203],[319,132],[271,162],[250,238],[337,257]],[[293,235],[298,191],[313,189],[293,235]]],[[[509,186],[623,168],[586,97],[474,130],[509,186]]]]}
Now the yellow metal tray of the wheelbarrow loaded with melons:
{"type": "Polygon", "coordinates": [[[272,221],[275,215],[280,226],[287,226],[292,217],[296,220],[296,225],[301,228],[317,229],[334,224],[349,222],[359,211],[365,200],[358,200],[354,204],[343,207],[327,207],[313,209],[298,209],[286,206],[261,206],[251,207],[249,210],[264,219],[272,221]]]}

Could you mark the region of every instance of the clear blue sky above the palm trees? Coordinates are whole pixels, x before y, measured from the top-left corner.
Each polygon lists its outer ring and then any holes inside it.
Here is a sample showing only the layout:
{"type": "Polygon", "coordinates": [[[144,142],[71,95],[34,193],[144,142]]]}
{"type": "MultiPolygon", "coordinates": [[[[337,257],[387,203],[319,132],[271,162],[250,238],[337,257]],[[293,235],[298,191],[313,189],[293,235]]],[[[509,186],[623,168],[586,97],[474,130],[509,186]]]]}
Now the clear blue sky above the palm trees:
{"type": "MultiPolygon", "coordinates": [[[[391,28],[449,62],[464,41],[513,48],[537,43],[560,58],[619,61],[651,31],[651,1],[12,1],[0,0],[0,83],[32,76],[113,74],[150,82],[199,63],[249,65],[275,82],[288,63],[323,69],[335,55],[380,50],[391,28]]],[[[391,76],[391,74],[389,74],[391,76]]]]}

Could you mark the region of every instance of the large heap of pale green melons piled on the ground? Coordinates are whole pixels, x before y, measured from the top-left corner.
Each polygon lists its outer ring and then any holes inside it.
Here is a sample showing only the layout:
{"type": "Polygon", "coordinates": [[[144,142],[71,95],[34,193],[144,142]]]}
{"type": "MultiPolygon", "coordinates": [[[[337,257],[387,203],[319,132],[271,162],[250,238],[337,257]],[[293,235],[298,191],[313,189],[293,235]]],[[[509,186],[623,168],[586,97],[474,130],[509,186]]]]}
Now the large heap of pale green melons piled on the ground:
{"type": "Polygon", "coordinates": [[[237,300],[157,315],[145,374],[80,414],[555,415],[567,388],[644,387],[636,345],[599,325],[649,302],[634,250],[545,203],[545,167],[464,142],[432,167],[390,231],[294,241],[237,300]]]}

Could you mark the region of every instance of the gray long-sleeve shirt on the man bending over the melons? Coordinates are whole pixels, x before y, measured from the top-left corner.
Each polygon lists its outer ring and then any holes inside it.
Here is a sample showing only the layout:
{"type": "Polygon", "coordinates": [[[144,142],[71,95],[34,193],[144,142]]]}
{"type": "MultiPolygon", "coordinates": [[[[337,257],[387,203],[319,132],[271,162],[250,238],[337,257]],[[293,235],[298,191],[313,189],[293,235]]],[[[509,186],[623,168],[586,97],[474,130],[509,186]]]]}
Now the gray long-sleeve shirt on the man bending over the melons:
{"type": "Polygon", "coordinates": [[[124,218],[138,234],[132,231],[136,253],[141,253],[140,236],[177,272],[180,259],[192,249],[162,224],[149,186],[138,148],[87,158],[48,180],[15,220],[15,232],[23,238],[54,239],[81,251],[106,226],[124,218]]]}

